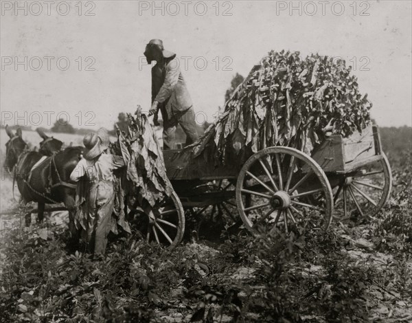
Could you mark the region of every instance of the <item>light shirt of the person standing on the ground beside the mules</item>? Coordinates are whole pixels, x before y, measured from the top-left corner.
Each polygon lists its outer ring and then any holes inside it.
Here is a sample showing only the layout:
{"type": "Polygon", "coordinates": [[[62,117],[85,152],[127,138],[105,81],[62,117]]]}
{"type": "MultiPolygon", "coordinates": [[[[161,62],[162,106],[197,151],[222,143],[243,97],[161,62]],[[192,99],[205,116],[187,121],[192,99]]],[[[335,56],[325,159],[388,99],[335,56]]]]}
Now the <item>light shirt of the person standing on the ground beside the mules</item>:
{"type": "Polygon", "coordinates": [[[113,170],[123,166],[123,158],[111,154],[102,154],[93,160],[82,158],[71,172],[70,179],[78,181],[86,175],[89,181],[113,181],[113,170]]]}

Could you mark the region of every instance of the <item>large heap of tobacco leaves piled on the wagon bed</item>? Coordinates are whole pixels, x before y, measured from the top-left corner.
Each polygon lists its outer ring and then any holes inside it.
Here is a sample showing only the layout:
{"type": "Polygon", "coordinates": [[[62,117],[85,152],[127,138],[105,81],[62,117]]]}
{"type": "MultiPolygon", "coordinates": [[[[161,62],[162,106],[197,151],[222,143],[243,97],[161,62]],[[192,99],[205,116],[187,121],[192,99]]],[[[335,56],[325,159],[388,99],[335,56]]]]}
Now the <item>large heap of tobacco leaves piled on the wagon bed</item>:
{"type": "Polygon", "coordinates": [[[243,164],[268,146],[310,153],[328,134],[347,137],[370,122],[372,104],[358,90],[344,60],[299,52],[269,52],[225,104],[225,110],[191,146],[223,164],[243,164]]]}

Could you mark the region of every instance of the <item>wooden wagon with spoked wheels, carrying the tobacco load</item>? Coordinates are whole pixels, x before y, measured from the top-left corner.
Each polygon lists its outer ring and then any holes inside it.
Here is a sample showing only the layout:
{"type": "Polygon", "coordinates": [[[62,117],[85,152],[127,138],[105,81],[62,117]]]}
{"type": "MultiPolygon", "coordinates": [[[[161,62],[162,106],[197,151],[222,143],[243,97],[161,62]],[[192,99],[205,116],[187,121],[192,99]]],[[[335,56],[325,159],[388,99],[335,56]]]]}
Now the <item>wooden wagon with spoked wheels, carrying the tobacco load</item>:
{"type": "Polygon", "coordinates": [[[185,214],[242,220],[253,234],[271,230],[328,229],[333,217],[374,217],[391,192],[391,168],[377,126],[343,138],[328,137],[312,155],[274,146],[242,166],[215,166],[185,151],[163,151],[174,187],[146,226],[148,240],[175,247],[185,214]],[[237,218],[237,219],[236,219],[237,218]]]}

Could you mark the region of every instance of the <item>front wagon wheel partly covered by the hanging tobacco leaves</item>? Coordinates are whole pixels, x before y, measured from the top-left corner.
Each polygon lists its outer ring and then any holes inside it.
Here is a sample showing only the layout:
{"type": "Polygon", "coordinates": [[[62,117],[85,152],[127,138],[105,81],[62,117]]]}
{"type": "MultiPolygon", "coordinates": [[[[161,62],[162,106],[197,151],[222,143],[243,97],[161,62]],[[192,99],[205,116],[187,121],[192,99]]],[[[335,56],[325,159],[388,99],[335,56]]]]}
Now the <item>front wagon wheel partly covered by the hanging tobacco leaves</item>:
{"type": "Polygon", "coordinates": [[[176,192],[165,197],[157,210],[152,214],[145,214],[142,209],[133,210],[140,216],[137,227],[146,237],[148,243],[155,241],[173,249],[182,241],[185,232],[185,213],[176,192]]]}

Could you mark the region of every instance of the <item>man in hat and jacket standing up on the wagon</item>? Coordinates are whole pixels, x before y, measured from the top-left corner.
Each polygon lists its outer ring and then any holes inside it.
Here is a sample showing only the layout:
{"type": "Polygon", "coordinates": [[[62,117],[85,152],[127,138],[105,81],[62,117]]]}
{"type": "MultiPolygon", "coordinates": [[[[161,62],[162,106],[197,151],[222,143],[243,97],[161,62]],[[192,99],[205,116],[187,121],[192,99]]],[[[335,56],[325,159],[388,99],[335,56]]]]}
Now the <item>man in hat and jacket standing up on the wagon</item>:
{"type": "Polygon", "coordinates": [[[160,39],[152,39],[144,56],[152,67],[152,107],[149,115],[155,115],[157,124],[159,110],[163,119],[163,149],[174,149],[176,126],[181,125],[186,134],[186,145],[198,138],[192,99],[179,68],[176,54],[165,50],[160,39]]]}

